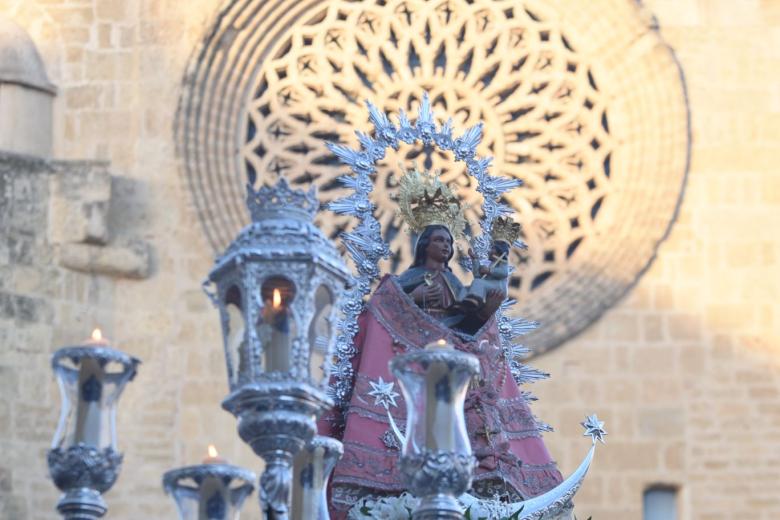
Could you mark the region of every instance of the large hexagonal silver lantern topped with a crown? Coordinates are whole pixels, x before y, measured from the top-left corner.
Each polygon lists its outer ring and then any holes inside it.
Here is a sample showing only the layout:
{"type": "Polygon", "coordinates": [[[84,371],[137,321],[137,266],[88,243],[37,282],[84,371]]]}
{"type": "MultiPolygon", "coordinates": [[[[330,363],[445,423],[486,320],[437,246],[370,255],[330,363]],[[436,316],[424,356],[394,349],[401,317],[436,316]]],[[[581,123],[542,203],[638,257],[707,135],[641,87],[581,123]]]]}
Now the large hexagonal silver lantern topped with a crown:
{"type": "MultiPolygon", "coordinates": [[[[206,284],[219,308],[230,395],[222,406],[263,457],[266,516],[287,518],[294,455],[316,431],[326,395],[339,300],[351,275],[313,224],[316,191],[285,179],[255,191],[252,223],[216,261],[206,284]]],[[[204,284],[204,285],[206,285],[204,284]]]]}

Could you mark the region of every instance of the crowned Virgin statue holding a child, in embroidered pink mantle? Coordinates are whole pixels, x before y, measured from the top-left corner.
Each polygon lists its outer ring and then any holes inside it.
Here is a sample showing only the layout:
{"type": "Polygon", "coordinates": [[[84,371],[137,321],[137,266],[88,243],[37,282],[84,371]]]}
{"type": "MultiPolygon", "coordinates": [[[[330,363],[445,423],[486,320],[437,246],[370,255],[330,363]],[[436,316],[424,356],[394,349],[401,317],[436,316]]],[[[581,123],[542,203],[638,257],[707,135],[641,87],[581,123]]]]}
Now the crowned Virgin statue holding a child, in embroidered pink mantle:
{"type": "Polygon", "coordinates": [[[351,397],[319,425],[320,434],[344,444],[332,474],[331,518],[347,518],[356,504],[404,491],[398,469],[402,432],[396,430],[405,423],[406,407],[388,362],[439,339],[476,355],[481,365],[465,403],[478,462],[470,494],[518,502],[547,492],[562,477],[512,377],[496,319],[507,295],[506,253],[519,226],[497,219],[490,237],[492,261],[480,266],[475,259],[470,288],[450,268],[455,241],[465,227],[455,194],[436,175],[410,171],[401,179],[397,198],[401,216],[417,237],[414,260],[399,275],[385,275],[370,296],[354,337],[351,397]],[[485,282],[491,273],[494,280],[485,282]]]}

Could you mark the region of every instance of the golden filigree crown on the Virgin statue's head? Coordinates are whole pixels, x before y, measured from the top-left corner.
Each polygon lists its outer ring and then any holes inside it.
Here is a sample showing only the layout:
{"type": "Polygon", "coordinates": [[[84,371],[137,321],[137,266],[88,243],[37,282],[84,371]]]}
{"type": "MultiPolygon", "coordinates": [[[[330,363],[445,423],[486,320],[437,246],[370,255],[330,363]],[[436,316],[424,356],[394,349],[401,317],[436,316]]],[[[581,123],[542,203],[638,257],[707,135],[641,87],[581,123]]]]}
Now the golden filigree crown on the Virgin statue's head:
{"type": "Polygon", "coordinates": [[[395,198],[410,232],[419,233],[427,226],[439,224],[446,226],[455,240],[463,236],[466,219],[460,201],[436,174],[407,170],[401,177],[395,198]]]}

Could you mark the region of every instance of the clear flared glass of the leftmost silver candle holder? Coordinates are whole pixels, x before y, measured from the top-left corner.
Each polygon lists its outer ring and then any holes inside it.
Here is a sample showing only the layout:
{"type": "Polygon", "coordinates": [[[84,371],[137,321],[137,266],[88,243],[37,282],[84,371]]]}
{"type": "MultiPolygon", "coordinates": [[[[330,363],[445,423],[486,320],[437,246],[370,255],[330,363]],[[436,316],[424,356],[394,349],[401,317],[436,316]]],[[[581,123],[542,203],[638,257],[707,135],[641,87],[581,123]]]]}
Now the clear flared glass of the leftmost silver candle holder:
{"type": "Polygon", "coordinates": [[[116,449],[116,404],[129,379],[125,367],[93,357],[66,358],[55,374],[63,408],[52,447],[116,449]]]}

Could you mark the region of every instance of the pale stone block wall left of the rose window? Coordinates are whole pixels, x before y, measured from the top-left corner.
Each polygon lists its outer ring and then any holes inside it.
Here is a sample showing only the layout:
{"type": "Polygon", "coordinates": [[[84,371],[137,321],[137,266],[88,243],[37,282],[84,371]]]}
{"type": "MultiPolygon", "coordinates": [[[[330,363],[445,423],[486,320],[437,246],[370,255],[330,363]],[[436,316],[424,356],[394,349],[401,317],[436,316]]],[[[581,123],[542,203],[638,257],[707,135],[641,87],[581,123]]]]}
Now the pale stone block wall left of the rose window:
{"type": "MultiPolygon", "coordinates": [[[[62,237],[49,209],[95,186],[58,187],[67,174],[58,171],[62,161],[36,162],[31,171],[26,161],[2,159],[3,178],[12,179],[0,203],[3,520],[58,518],[59,493],[46,468],[60,406],[49,357],[96,326],[143,361],[120,403],[125,459],[106,496],[110,518],[175,517],[162,474],[198,462],[209,443],[258,469],[234,418],[220,408],[227,381],[219,323],[200,290],[213,258],[173,154],[185,62],[215,8],[213,1],[0,2],[0,12],[30,33],[58,87],[54,157],[74,165],[103,161],[96,168],[111,175],[106,245],[143,242],[150,253],[148,277],[141,279],[63,267],[63,244],[100,240],[91,231],[80,242],[62,237]],[[18,219],[7,224],[8,212],[18,219]],[[21,231],[6,231],[17,221],[21,231]]],[[[247,511],[259,517],[256,500],[247,511]]]]}

